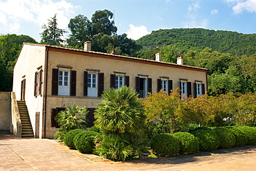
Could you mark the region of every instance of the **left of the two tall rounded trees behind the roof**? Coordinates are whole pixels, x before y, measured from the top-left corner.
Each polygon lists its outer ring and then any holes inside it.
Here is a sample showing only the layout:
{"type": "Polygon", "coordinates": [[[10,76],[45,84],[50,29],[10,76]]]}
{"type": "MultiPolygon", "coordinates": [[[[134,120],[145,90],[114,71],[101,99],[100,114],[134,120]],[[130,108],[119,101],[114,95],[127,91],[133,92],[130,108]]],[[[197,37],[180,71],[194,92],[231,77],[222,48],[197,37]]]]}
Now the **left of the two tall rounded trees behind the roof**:
{"type": "Polygon", "coordinates": [[[68,46],[73,48],[83,48],[84,42],[91,40],[91,21],[82,14],[77,15],[74,19],[70,19],[68,28],[71,30],[68,46]]]}

